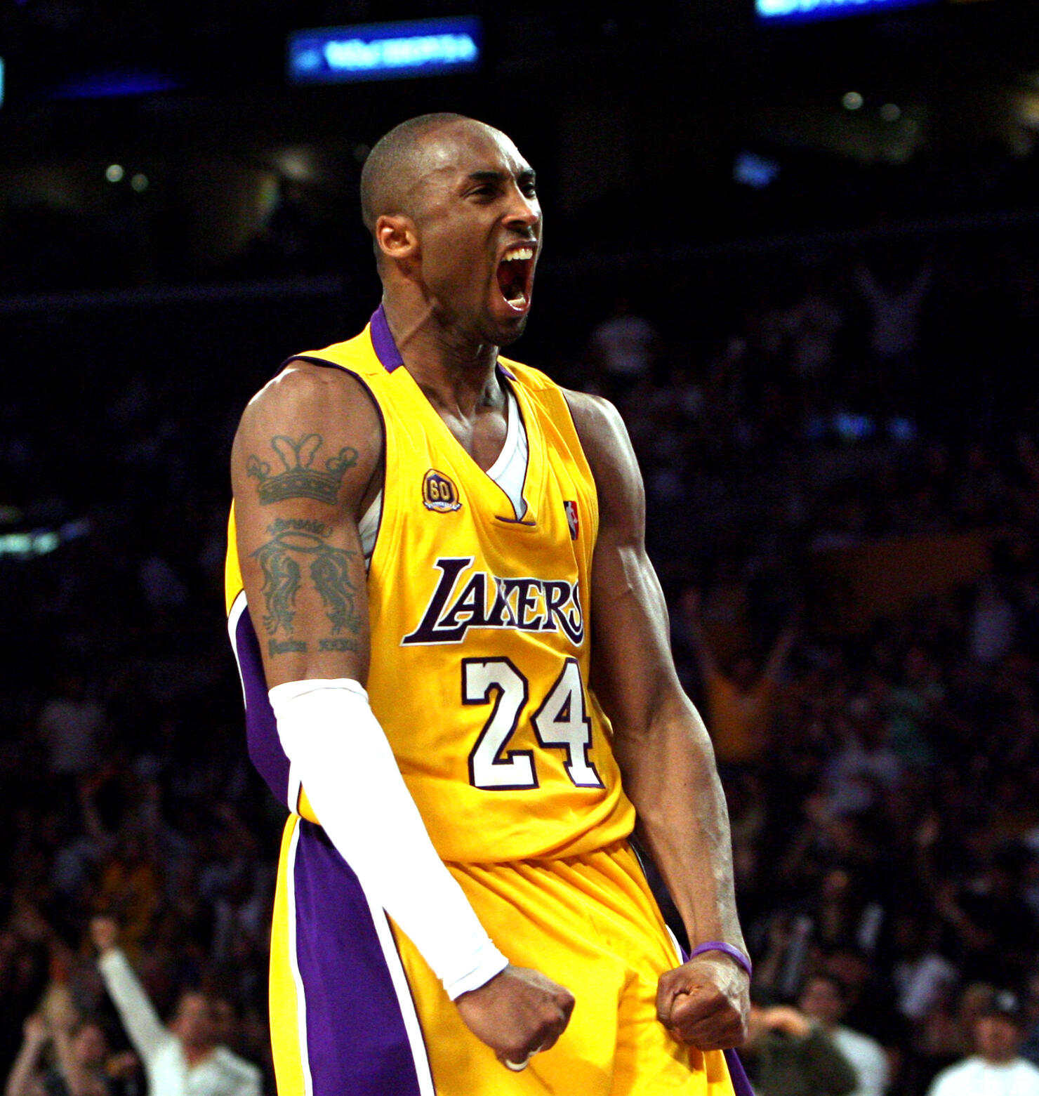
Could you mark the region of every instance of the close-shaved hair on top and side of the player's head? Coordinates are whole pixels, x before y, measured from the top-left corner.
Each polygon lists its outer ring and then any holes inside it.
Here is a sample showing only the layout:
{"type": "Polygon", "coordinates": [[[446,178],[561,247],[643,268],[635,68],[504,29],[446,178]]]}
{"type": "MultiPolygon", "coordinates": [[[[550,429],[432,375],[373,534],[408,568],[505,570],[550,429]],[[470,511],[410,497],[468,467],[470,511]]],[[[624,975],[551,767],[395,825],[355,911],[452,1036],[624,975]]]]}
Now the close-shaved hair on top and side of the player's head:
{"type": "Polygon", "coordinates": [[[376,141],[361,172],[361,214],[369,232],[375,233],[375,222],[384,215],[411,215],[410,193],[422,174],[431,138],[459,123],[491,130],[464,114],[420,114],[376,141]]]}

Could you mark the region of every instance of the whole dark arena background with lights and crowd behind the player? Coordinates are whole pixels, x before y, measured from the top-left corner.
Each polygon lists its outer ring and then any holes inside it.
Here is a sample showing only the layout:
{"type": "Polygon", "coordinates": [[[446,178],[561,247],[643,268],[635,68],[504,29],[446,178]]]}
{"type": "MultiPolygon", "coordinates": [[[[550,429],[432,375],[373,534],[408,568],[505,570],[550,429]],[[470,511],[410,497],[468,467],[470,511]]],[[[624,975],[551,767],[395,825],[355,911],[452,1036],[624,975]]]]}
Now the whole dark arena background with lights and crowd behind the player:
{"type": "Polygon", "coordinates": [[[0,0],[0,1069],[36,1055],[8,1096],[56,1092],[83,1019],[146,1092],[99,913],[273,1093],[230,438],[377,305],[361,167],[439,110],[538,172],[511,353],[613,399],[641,461],[760,1091],[849,1091],[773,1069],[777,1005],[829,1029],[823,974],[890,1093],[993,1002],[1039,1062],[1034,0],[0,0]]]}

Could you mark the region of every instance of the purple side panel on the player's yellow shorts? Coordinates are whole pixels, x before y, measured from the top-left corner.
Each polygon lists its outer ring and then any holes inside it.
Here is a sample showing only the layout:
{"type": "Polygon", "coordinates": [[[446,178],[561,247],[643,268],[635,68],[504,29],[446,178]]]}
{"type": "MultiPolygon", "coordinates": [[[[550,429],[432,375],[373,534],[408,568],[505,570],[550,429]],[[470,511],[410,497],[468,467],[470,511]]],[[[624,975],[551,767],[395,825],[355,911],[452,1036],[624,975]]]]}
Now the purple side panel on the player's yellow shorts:
{"type": "Polygon", "coordinates": [[[296,958],[313,1096],[420,1096],[372,911],[320,826],[299,821],[296,958]]]}

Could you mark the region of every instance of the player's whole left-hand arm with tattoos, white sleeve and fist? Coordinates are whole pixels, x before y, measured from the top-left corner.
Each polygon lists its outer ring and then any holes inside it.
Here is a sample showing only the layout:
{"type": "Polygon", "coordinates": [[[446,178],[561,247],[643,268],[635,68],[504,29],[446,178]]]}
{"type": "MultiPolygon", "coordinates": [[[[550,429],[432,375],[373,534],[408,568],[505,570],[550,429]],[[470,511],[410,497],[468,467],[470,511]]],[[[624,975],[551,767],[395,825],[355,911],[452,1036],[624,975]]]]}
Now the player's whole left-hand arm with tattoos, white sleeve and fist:
{"type": "Polygon", "coordinates": [[[367,704],[358,522],[383,432],[349,374],[292,363],[249,403],[231,452],[238,556],[278,734],[317,817],[499,1059],[559,1038],[572,996],[506,966],[441,863],[367,704]]]}

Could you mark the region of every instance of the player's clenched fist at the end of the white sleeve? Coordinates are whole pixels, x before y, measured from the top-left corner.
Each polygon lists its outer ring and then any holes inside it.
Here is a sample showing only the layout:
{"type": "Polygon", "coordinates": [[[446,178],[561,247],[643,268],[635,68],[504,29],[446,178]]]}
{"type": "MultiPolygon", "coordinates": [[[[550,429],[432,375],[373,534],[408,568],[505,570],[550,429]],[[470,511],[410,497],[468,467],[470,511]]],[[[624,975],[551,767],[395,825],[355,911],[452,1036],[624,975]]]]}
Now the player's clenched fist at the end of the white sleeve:
{"type": "Polygon", "coordinates": [[[506,967],[455,1004],[466,1027],[513,1068],[556,1043],[573,1012],[573,994],[526,967],[506,967]]]}

